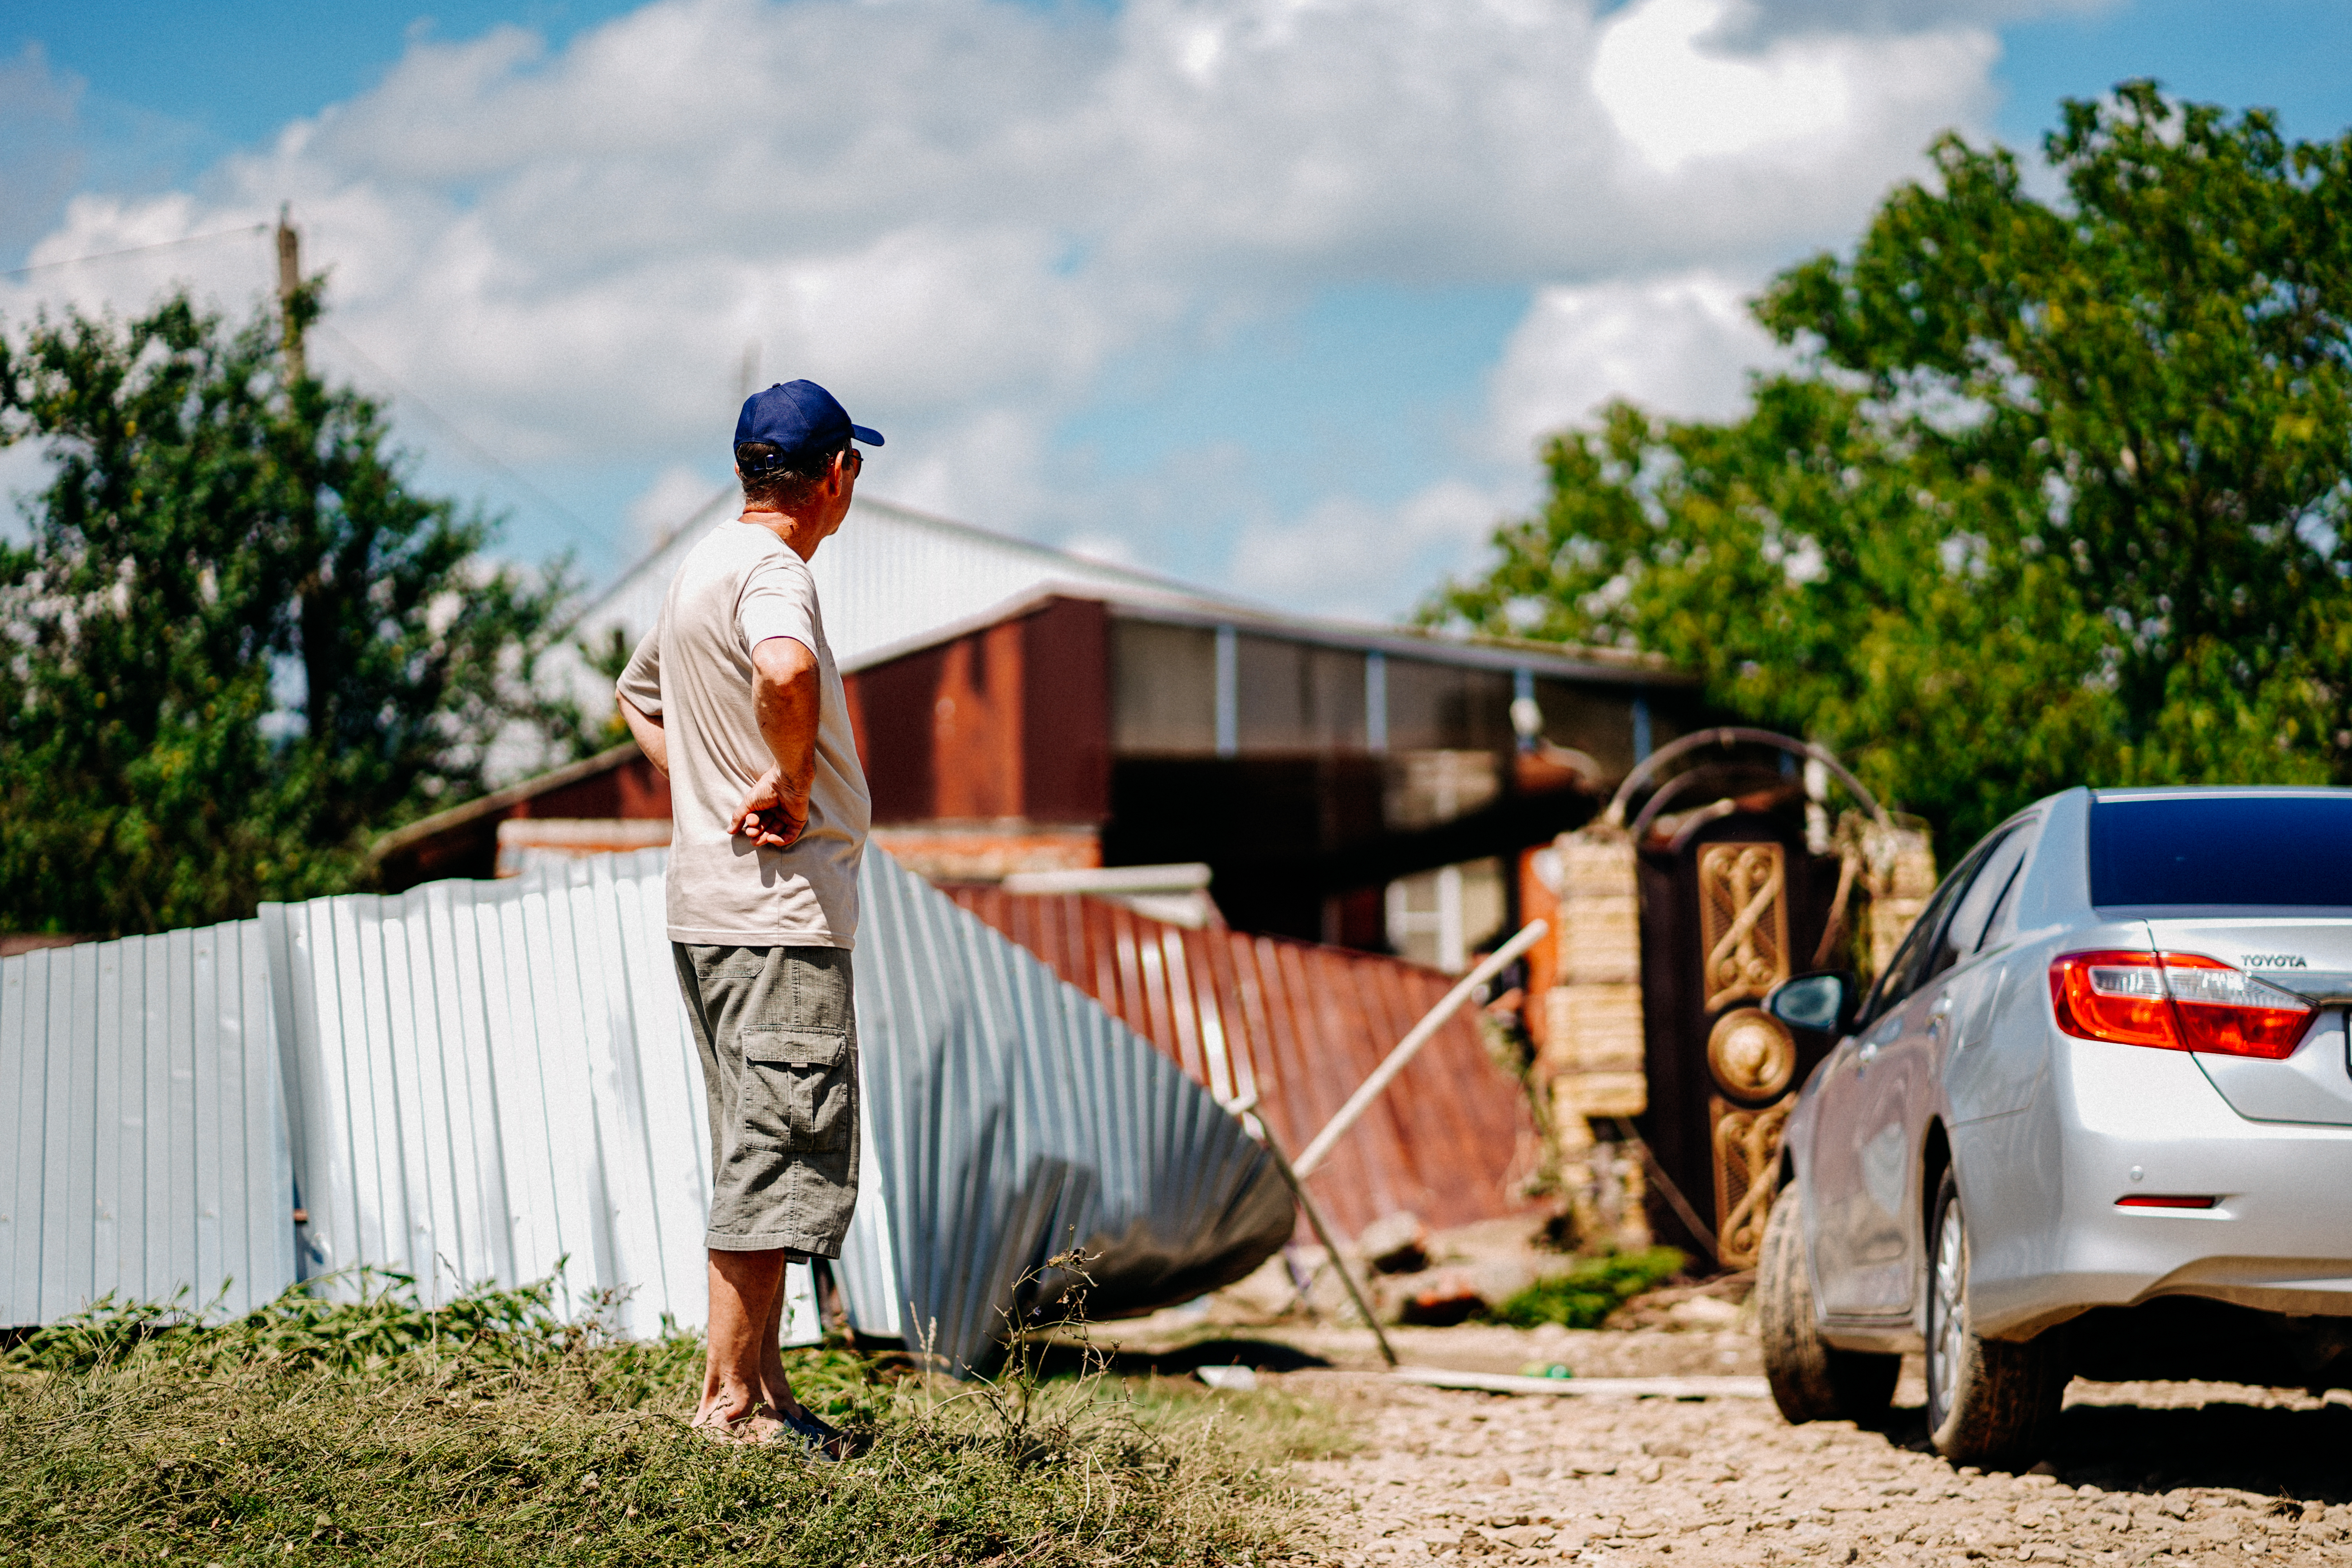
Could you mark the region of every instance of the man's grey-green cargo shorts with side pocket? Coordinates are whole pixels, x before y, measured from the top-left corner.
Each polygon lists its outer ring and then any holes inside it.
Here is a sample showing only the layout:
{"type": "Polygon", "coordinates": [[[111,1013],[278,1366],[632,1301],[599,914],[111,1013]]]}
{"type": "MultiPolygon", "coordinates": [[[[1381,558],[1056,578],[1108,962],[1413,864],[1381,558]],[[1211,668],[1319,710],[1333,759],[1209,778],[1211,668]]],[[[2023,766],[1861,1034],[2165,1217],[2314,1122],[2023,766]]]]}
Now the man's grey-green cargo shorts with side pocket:
{"type": "Polygon", "coordinates": [[[858,1201],[858,1016],[847,947],[670,943],[710,1112],[720,1253],[840,1258],[858,1201]]]}

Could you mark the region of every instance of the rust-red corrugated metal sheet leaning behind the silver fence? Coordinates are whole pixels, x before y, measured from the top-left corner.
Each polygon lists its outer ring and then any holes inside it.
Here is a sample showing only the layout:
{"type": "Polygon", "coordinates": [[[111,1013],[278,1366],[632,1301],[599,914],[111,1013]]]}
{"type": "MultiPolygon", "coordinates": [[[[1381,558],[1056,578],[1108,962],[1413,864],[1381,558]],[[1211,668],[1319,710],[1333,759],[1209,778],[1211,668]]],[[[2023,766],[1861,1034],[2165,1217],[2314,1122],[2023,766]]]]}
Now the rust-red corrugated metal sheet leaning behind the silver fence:
{"type": "MultiPolygon", "coordinates": [[[[1218,1098],[1258,1095],[1296,1152],[1451,987],[1402,959],[1225,929],[1188,931],[1077,893],[953,889],[1218,1098]]],[[[1519,1084],[1465,1009],[1310,1178],[1355,1234],[1411,1211],[1432,1227],[1526,1211],[1538,1157],[1519,1084]]]]}

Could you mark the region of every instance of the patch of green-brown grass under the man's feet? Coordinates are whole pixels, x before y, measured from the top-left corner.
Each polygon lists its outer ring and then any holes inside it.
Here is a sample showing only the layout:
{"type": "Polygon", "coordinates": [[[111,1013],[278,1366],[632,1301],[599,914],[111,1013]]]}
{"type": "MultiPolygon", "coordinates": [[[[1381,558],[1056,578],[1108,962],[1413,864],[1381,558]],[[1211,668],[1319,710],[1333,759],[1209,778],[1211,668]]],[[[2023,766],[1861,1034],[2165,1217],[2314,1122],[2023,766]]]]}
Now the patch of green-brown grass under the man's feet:
{"type": "Polygon", "coordinates": [[[0,1556],[38,1563],[1263,1563],[1334,1443],[1282,1394],[1098,1371],[889,1378],[793,1352],[868,1443],[826,1467],[687,1429],[701,1340],[562,1324],[546,1288],[289,1293],[230,1324],[106,1305],[0,1359],[0,1556]]]}

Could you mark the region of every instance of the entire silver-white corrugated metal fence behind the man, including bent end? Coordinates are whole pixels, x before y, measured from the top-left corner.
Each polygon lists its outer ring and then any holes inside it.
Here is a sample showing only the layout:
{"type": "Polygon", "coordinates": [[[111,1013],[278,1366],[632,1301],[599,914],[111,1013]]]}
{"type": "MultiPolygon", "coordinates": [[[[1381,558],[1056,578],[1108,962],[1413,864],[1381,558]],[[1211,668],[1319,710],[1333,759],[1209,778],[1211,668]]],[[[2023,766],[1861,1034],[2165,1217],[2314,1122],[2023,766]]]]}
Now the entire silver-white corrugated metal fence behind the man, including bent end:
{"type": "MultiPolygon", "coordinates": [[[[621,1291],[628,1333],[699,1326],[708,1131],[663,860],[543,858],[7,959],[0,1321],[106,1291],[209,1298],[230,1274],[247,1307],[365,1262],[428,1300],[562,1265],[567,1309],[621,1291]]],[[[861,891],[866,1159],[842,1255],[861,1331],[969,1366],[1073,1244],[1120,1312],[1289,1237],[1263,1150],[1148,1041],[887,853],[861,891]]]]}

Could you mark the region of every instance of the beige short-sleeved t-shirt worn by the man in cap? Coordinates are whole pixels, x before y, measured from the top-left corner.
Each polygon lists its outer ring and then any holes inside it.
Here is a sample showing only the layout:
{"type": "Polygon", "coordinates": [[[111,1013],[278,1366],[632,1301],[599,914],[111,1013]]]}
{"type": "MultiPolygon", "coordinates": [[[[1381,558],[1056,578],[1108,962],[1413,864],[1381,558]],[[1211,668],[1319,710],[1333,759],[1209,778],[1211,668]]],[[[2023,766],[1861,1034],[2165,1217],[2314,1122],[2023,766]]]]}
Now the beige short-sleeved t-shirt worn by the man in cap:
{"type": "Polygon", "coordinates": [[[661,715],[670,745],[670,940],[849,947],[873,811],[809,564],[755,522],[710,529],[670,578],[619,691],[661,715]],[[727,832],[727,816],[776,764],[753,712],[750,651],[769,637],[816,654],[816,780],[809,827],[790,849],[727,832]]]}

